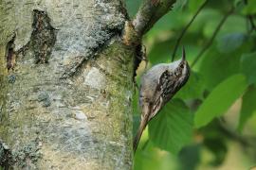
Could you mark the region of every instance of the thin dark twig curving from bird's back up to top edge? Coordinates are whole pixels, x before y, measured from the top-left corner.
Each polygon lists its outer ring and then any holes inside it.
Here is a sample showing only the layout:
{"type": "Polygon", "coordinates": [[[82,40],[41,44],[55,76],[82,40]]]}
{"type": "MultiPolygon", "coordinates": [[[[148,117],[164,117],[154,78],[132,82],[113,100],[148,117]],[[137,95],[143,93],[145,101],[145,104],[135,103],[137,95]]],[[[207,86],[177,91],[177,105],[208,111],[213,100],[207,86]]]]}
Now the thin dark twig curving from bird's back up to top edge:
{"type": "Polygon", "coordinates": [[[174,53],[172,55],[172,61],[174,61],[175,55],[176,55],[176,51],[179,45],[179,42],[181,41],[181,39],[183,38],[183,36],[185,35],[185,33],[187,32],[188,28],[192,25],[192,22],[194,21],[194,19],[196,18],[196,16],[200,13],[200,11],[207,5],[208,0],[205,1],[204,4],[202,4],[202,6],[200,8],[197,9],[197,11],[195,12],[195,14],[192,16],[192,20],[188,23],[187,26],[184,27],[184,29],[182,30],[181,34],[179,35],[175,46],[174,46],[174,53]]]}

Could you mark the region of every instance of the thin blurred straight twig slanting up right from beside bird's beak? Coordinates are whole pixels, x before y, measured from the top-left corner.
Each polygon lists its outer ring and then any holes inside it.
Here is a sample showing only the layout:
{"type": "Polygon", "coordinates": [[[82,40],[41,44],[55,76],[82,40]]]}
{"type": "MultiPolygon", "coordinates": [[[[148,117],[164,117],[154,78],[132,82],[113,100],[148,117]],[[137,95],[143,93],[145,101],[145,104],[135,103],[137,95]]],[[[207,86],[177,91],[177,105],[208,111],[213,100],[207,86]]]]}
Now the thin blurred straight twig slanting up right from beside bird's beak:
{"type": "Polygon", "coordinates": [[[192,66],[194,66],[194,64],[198,61],[198,59],[200,59],[203,54],[206,52],[206,50],[210,47],[211,43],[213,42],[213,40],[215,39],[215,37],[217,36],[219,30],[221,29],[221,27],[223,26],[223,24],[226,22],[226,20],[228,19],[229,15],[233,12],[233,8],[231,8],[229,10],[229,12],[222,18],[222,20],[220,21],[219,25],[216,27],[216,29],[214,30],[213,34],[210,37],[210,41],[207,42],[207,44],[204,46],[204,48],[200,51],[200,53],[196,56],[196,58],[192,61],[192,66]]]}

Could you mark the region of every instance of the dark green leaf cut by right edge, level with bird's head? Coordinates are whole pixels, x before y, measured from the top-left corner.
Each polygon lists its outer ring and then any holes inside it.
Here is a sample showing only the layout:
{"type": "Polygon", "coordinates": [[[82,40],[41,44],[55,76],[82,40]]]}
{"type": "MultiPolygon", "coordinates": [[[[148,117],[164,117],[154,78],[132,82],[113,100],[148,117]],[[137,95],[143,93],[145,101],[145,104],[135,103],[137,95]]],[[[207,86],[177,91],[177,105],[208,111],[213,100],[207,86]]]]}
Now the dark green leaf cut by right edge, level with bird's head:
{"type": "Polygon", "coordinates": [[[247,76],[248,83],[256,84],[256,52],[242,56],[241,71],[247,76]]]}

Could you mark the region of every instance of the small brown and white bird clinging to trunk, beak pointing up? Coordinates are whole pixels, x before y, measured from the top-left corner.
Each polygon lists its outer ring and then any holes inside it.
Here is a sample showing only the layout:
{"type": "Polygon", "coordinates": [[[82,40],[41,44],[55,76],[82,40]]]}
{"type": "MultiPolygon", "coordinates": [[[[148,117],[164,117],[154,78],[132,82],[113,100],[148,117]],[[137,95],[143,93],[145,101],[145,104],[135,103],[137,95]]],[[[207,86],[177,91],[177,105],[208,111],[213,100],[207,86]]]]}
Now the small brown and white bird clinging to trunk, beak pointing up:
{"type": "Polygon", "coordinates": [[[171,63],[159,63],[141,76],[139,106],[141,121],[134,139],[134,152],[144,128],[188,81],[190,66],[186,60],[185,48],[182,58],[171,63]]]}

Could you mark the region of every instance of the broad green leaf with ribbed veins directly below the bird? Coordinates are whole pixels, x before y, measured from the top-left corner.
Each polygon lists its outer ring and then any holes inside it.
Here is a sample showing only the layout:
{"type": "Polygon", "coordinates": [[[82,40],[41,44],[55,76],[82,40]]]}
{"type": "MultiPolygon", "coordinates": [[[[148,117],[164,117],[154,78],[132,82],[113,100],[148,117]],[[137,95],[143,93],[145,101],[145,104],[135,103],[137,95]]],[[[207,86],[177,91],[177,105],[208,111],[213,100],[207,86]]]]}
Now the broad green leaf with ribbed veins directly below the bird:
{"type": "Polygon", "coordinates": [[[192,113],[182,100],[173,99],[150,122],[150,139],[159,148],[177,154],[192,139],[192,113]]]}

